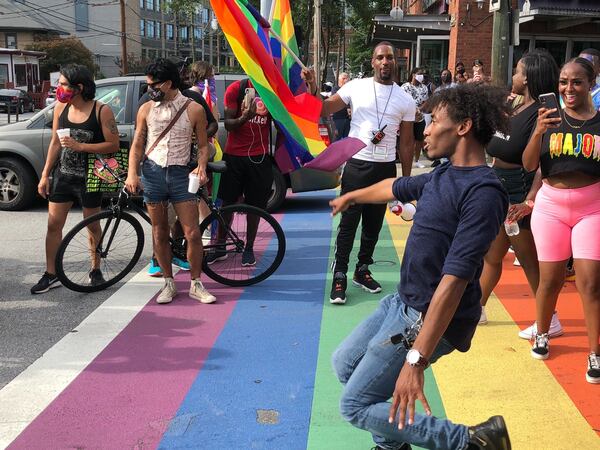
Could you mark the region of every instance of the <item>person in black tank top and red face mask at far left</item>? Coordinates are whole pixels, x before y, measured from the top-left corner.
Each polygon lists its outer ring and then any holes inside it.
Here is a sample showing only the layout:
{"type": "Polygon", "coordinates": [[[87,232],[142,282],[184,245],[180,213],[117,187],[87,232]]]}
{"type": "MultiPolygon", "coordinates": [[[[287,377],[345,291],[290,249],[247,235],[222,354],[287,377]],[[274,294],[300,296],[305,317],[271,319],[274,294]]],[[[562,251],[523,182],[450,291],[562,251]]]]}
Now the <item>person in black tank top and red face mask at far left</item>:
{"type": "MultiPolygon", "coordinates": [[[[102,194],[85,192],[88,157],[119,150],[119,130],[112,110],[94,101],[96,85],[92,74],[86,67],[75,64],[62,68],[60,73],[52,140],[38,184],[38,193],[48,199],[46,271],[31,288],[32,294],[41,294],[60,285],[55,275],[54,260],[73,202],[78,200],[81,203],[84,217],[100,211],[102,194]],[[70,129],[69,136],[59,139],[57,130],[64,128],[70,129]]],[[[91,230],[90,245],[99,234],[100,229],[91,230]]],[[[99,263],[97,259],[90,261],[91,284],[102,280],[99,263]]]]}

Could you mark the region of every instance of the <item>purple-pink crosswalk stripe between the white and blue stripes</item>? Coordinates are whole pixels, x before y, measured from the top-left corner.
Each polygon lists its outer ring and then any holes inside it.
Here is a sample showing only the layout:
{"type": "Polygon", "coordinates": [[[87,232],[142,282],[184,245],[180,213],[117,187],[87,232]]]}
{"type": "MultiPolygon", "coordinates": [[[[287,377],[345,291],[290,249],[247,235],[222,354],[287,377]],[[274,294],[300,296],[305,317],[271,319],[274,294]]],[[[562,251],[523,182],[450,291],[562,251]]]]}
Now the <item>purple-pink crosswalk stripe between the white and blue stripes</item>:
{"type": "Polygon", "coordinates": [[[9,448],[158,446],[242,293],[209,280],[218,302],[203,305],[189,272],[175,280],[174,302],[152,298],[9,448]]]}

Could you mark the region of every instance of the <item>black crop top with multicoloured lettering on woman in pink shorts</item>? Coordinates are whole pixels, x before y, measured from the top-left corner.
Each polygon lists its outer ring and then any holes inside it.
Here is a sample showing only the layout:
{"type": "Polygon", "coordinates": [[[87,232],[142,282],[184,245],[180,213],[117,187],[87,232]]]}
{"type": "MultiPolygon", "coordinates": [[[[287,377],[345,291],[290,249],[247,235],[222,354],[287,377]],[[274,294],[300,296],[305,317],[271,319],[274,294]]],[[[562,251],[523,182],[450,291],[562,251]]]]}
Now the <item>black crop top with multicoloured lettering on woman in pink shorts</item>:
{"type": "Polygon", "coordinates": [[[542,177],[565,172],[600,177],[600,112],[587,121],[574,119],[564,110],[562,114],[560,127],[542,136],[542,177]]]}

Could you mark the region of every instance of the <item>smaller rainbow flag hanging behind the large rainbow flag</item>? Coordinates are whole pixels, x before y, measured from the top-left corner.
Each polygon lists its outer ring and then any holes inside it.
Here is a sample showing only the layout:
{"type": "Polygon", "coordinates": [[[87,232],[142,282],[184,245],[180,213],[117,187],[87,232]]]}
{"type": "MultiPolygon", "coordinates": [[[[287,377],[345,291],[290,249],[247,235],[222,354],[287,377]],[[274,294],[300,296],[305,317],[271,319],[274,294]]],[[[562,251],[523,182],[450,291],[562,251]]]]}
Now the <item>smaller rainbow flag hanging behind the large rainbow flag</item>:
{"type": "MultiPolygon", "coordinates": [[[[273,0],[271,5],[271,28],[287,44],[290,50],[296,55],[300,54],[289,0],[273,0]]],[[[294,95],[306,92],[306,83],[300,75],[302,68],[274,37],[271,37],[271,53],[294,95]]]]}

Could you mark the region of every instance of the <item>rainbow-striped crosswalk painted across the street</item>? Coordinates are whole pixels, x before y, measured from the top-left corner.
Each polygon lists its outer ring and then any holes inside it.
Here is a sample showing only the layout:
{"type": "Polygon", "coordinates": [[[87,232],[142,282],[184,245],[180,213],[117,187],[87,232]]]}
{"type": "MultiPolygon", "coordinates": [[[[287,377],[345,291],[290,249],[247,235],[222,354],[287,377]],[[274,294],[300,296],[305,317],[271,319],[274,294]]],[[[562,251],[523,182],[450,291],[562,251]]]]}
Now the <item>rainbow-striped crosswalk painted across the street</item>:
{"type": "MultiPolygon", "coordinates": [[[[330,356],[380,297],[350,287],[345,306],[328,302],[334,194],[292,198],[280,269],[246,289],[207,283],[216,305],[185,294],[157,305],[160,282],[134,277],[0,390],[0,448],[370,448],[369,434],[339,415],[330,356]]],[[[395,289],[409,230],[388,215],[372,267],[384,292],[395,289]]],[[[428,369],[434,414],[466,424],[502,414],[514,449],[600,449],[600,386],[585,382],[578,296],[567,286],[565,336],[547,362],[533,360],[517,337],[533,299],[511,263],[472,349],[428,369]]],[[[182,293],[186,276],[176,277],[182,293]]]]}

